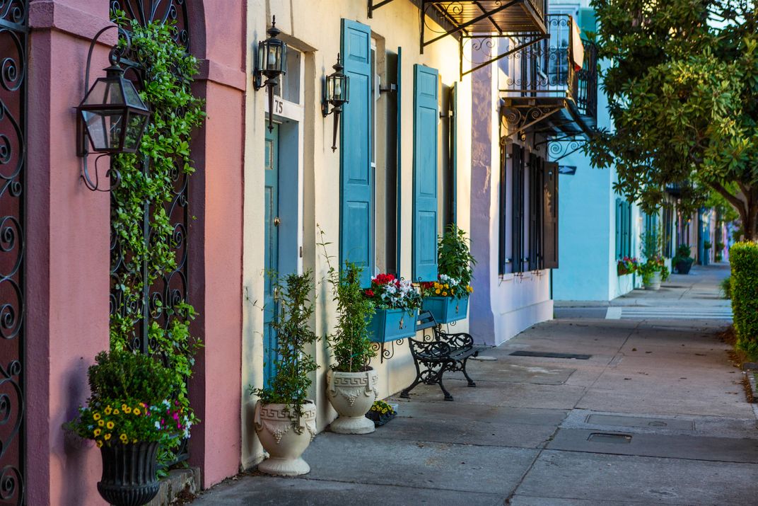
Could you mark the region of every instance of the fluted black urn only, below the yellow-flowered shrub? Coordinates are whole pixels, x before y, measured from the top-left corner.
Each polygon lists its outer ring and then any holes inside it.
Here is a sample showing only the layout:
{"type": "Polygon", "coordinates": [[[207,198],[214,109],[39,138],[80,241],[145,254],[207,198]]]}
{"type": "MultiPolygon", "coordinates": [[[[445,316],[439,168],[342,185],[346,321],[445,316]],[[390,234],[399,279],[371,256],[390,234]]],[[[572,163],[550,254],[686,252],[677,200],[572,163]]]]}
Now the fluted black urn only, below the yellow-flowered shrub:
{"type": "Polygon", "coordinates": [[[155,477],[158,442],[114,442],[100,448],[102,478],[97,491],[114,506],[142,506],[158,494],[155,477]]]}

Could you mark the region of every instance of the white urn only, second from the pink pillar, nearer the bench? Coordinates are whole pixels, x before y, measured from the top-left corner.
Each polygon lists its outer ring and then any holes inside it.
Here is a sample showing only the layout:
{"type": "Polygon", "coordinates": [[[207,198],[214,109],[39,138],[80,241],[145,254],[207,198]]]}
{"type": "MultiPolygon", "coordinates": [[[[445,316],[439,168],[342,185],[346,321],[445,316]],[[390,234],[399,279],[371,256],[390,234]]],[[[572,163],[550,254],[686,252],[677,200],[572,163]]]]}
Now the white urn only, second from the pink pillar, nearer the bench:
{"type": "Polygon", "coordinates": [[[329,429],[340,434],[374,432],[374,422],[366,418],[377,398],[379,374],[370,369],[364,372],[327,371],[327,397],[340,416],[329,429]]]}

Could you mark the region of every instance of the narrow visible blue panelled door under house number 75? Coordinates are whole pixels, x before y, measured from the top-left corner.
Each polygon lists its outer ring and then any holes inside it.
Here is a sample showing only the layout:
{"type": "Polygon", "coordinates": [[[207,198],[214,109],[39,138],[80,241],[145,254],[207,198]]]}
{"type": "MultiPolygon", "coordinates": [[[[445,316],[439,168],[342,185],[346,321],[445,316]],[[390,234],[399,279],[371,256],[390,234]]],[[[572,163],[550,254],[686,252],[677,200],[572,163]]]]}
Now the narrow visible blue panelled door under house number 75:
{"type": "Polygon", "coordinates": [[[277,316],[277,294],[273,274],[279,269],[279,126],[266,128],[265,149],[265,281],[263,316],[263,381],[268,386],[274,377],[277,334],[272,323],[277,316]]]}

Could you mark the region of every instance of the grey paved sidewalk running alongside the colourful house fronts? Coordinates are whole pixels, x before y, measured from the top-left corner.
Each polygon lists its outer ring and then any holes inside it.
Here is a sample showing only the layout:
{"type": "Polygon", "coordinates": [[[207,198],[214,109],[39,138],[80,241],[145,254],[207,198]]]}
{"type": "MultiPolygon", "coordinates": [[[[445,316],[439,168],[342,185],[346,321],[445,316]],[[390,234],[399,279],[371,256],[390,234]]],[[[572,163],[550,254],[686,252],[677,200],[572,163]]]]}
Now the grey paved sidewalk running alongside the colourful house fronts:
{"type": "Polygon", "coordinates": [[[455,401],[418,386],[371,435],[319,434],[308,475],[244,473],[193,504],[758,504],[756,410],[719,340],[728,316],[711,317],[725,275],[561,308],[469,363],[476,388],[447,375],[455,401]],[[640,307],[666,312],[625,316],[640,307]]]}

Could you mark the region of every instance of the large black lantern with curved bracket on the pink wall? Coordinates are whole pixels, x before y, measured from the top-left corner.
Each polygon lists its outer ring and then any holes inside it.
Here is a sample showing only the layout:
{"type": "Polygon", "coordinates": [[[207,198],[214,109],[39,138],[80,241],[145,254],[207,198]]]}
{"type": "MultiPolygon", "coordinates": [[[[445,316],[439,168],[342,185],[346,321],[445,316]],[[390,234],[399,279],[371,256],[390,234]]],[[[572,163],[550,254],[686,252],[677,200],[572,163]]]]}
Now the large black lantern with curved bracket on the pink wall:
{"type": "MultiPolygon", "coordinates": [[[[92,49],[99,36],[109,28],[114,26],[100,30],[89,44],[85,84],[89,83],[92,49]]],[[[136,152],[150,118],[149,107],[139,98],[133,83],[124,77],[121,52],[128,51],[129,37],[123,30],[119,29],[119,32],[127,40],[127,49],[111,49],[108,55],[111,65],[103,69],[105,77],[97,78],[77,107],[77,155],[83,158],[81,177],[86,187],[92,191],[99,190],[97,161],[93,183],[87,170],[87,155],[90,152],[102,153],[101,156],[136,152]]],[[[121,179],[111,169],[108,169],[106,176],[114,176],[111,188],[116,187],[121,179]]]]}

